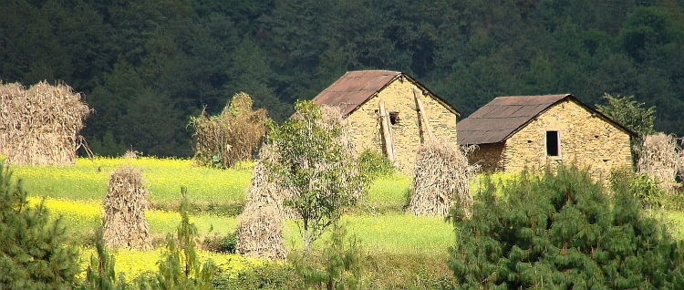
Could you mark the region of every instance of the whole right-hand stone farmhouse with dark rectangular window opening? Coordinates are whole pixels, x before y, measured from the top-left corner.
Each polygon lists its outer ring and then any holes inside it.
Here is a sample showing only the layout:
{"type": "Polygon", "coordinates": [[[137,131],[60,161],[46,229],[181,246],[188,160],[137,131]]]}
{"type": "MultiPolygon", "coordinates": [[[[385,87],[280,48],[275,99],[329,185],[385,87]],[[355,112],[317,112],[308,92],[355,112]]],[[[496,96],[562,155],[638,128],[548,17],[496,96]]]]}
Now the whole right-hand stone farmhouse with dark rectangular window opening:
{"type": "Polygon", "coordinates": [[[470,159],[483,170],[544,169],[565,161],[604,178],[611,168],[631,165],[635,136],[569,94],[494,98],[458,125],[459,144],[478,146],[470,159]]]}

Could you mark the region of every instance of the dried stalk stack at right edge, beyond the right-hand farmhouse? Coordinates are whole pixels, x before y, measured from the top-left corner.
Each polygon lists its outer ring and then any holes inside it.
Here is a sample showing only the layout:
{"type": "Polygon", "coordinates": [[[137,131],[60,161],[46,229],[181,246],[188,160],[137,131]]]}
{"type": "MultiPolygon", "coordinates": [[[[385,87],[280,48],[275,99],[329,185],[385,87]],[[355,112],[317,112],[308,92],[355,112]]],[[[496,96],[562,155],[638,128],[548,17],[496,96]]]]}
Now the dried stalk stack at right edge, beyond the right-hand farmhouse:
{"type": "Polygon", "coordinates": [[[637,173],[646,173],[668,189],[676,183],[680,160],[681,149],[672,135],[661,132],[648,135],[639,150],[637,173]]]}

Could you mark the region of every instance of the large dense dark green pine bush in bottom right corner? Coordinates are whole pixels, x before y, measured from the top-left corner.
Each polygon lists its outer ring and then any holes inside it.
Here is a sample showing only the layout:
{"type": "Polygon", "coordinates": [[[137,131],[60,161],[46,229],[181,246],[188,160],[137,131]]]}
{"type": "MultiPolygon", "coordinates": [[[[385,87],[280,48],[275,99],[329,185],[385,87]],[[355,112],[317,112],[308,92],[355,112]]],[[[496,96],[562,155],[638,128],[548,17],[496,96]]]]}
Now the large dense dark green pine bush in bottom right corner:
{"type": "Polygon", "coordinates": [[[559,167],[484,181],[472,218],[454,209],[449,268],[459,289],[647,288],[684,286],[684,243],[642,212],[627,184],[607,197],[587,171],[559,167]]]}

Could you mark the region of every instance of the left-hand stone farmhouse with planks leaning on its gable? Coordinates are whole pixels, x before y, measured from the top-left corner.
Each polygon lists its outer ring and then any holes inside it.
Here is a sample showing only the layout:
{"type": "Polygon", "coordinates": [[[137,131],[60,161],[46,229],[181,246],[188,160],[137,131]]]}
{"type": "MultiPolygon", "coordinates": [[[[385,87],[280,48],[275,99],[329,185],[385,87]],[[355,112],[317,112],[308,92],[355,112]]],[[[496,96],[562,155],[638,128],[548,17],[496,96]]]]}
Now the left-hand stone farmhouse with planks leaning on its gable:
{"type": "Polygon", "coordinates": [[[399,71],[347,72],[313,101],[341,109],[358,152],[382,152],[401,171],[413,170],[420,145],[430,136],[457,141],[461,113],[399,71]]]}

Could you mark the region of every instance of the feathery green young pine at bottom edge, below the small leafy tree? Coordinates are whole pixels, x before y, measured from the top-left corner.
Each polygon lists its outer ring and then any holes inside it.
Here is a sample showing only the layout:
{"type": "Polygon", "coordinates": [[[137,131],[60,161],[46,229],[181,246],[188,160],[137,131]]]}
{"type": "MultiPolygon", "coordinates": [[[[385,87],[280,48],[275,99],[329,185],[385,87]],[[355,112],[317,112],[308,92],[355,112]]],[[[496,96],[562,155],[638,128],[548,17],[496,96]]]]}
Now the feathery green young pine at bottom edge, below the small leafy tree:
{"type": "Polygon", "coordinates": [[[362,258],[356,235],[347,238],[347,228],[335,224],[321,255],[323,269],[306,257],[294,257],[294,263],[306,285],[327,290],[359,289],[362,258]]]}

